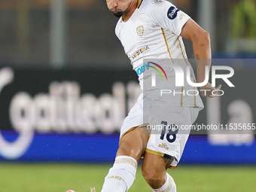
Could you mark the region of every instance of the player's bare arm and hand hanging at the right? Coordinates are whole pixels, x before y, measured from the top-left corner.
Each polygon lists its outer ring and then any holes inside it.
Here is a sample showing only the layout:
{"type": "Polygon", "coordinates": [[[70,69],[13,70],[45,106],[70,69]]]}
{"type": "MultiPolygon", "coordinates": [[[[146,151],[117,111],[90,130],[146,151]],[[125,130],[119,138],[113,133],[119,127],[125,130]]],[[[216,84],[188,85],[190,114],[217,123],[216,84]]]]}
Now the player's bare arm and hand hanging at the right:
{"type": "MultiPolygon", "coordinates": [[[[203,30],[194,20],[189,19],[181,29],[181,37],[187,38],[193,43],[194,55],[197,59],[197,82],[202,83],[206,78],[206,66],[209,66],[210,69],[212,62],[209,32],[203,30]]],[[[201,91],[202,96],[214,97],[212,91],[220,90],[221,85],[215,88],[208,82],[205,86],[199,88],[200,90],[209,90],[201,91]]]]}

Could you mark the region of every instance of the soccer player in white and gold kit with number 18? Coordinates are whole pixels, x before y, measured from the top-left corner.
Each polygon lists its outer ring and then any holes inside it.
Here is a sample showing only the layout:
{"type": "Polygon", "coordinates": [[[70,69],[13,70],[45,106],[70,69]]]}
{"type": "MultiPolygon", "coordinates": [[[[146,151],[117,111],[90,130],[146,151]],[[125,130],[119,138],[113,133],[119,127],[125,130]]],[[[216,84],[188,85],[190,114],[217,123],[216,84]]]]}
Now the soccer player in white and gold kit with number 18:
{"type": "MultiPolygon", "coordinates": [[[[138,102],[123,122],[116,159],[105,177],[102,192],[129,190],[136,177],[138,162],[142,158],[142,175],[151,189],[175,192],[175,182],[166,169],[177,166],[189,135],[189,131],[182,132],[178,129],[181,125],[194,123],[198,112],[203,108],[200,96],[185,94],[185,90],[194,90],[194,93],[201,93],[202,96],[214,97],[212,91],[221,88],[221,86],[212,87],[206,78],[209,73],[206,66],[211,66],[209,33],[170,2],[163,0],[106,0],[106,2],[108,9],[116,17],[120,17],[115,33],[130,58],[133,69],[139,75],[143,94],[139,96],[138,102]],[[200,91],[187,82],[184,82],[183,86],[175,86],[174,66],[184,71],[187,66],[190,68],[182,38],[193,42],[197,59],[197,81],[206,82],[199,87],[200,91]],[[157,63],[158,59],[159,63],[157,63]],[[166,59],[167,67],[163,69],[158,64],[166,63],[166,59]],[[166,83],[158,87],[147,81],[151,79],[151,72],[156,67],[163,69],[162,72],[166,75],[166,83]],[[169,90],[177,94],[160,96],[163,87],[165,90],[169,87],[169,90]],[[157,123],[169,126],[171,129],[162,130],[160,133],[153,133],[148,129],[149,125],[157,125],[157,123]],[[181,134],[178,134],[179,132],[181,134]]],[[[155,78],[157,83],[161,81],[160,75],[155,78]]],[[[193,70],[190,70],[190,78],[196,83],[193,70]]]]}

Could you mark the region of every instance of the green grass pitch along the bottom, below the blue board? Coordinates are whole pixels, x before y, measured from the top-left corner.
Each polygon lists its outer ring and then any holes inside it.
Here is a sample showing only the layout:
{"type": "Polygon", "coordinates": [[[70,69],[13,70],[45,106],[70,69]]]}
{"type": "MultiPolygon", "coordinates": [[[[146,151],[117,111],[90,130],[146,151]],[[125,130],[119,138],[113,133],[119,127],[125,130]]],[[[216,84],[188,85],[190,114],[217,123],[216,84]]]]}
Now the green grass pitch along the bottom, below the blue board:
{"type": "MultiPolygon", "coordinates": [[[[110,164],[0,163],[1,192],[100,192],[110,164]]],[[[178,166],[169,169],[178,192],[251,192],[256,166],[178,166]]],[[[150,192],[139,166],[130,192],[150,192]]]]}

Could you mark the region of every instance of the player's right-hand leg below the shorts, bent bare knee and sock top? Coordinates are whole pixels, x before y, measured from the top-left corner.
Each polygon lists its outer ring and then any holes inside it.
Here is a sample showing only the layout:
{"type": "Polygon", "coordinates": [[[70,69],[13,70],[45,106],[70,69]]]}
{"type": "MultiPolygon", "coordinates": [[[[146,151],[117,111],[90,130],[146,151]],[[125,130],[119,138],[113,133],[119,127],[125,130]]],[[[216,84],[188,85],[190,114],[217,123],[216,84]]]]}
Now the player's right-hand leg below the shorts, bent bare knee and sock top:
{"type": "Polygon", "coordinates": [[[145,153],[142,163],[142,175],[153,191],[176,192],[176,184],[166,172],[172,159],[156,154],[145,153]]]}

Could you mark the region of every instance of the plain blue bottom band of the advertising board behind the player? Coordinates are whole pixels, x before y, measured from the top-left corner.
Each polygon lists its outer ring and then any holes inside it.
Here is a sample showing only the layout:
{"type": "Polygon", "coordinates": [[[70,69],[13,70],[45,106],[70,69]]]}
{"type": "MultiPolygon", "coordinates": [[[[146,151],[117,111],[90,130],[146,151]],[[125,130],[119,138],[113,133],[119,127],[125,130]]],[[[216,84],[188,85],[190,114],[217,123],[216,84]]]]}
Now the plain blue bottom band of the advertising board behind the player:
{"type": "MultiPolygon", "coordinates": [[[[13,142],[17,133],[2,133],[13,142]]],[[[113,163],[118,148],[118,134],[35,134],[26,152],[14,161],[113,163]]],[[[180,164],[256,163],[256,141],[251,145],[211,145],[206,136],[190,136],[180,164]]],[[[1,152],[1,151],[0,151],[1,152]]],[[[1,161],[8,159],[0,154],[1,161]]]]}

